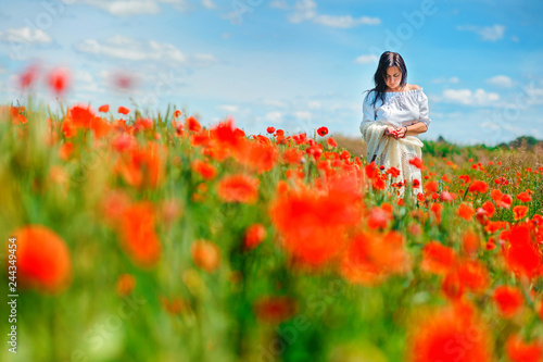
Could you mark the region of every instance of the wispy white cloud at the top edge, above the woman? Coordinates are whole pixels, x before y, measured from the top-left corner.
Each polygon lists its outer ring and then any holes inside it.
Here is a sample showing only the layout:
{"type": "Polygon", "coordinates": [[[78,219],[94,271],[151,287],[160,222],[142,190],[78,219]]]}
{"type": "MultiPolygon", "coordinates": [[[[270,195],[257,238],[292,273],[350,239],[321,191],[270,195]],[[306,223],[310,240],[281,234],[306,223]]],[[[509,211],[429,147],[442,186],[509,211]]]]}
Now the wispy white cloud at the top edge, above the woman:
{"type": "MultiPolygon", "coordinates": [[[[285,2],[278,1],[274,1],[274,8],[283,10],[290,9],[285,2]]],[[[381,23],[379,17],[361,16],[358,18],[353,18],[351,15],[334,16],[318,14],[317,3],[313,0],[296,1],[293,12],[289,14],[288,18],[289,22],[294,24],[313,21],[316,24],[339,28],[350,28],[358,25],[376,25],[381,23]]]]}

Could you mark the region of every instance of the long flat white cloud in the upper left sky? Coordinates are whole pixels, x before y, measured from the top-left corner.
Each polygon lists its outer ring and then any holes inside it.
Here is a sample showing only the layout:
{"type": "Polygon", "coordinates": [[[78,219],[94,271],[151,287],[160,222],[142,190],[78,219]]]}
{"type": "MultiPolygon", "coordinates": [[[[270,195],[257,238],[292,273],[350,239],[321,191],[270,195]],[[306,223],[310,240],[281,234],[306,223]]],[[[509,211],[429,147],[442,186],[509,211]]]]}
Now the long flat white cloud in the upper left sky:
{"type": "Polygon", "coordinates": [[[175,64],[205,66],[218,62],[211,54],[185,55],[175,46],[154,40],[139,41],[128,37],[115,36],[102,42],[87,39],[75,46],[81,53],[105,55],[129,61],[165,61],[175,64]]]}

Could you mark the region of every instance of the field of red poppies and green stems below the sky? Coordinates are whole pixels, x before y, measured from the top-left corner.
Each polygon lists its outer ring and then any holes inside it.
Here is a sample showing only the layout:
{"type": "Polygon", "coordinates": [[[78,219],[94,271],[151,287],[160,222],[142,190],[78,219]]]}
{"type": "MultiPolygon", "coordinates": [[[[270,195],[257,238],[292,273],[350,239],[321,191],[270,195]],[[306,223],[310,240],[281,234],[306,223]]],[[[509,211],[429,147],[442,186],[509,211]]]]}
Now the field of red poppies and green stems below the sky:
{"type": "Polygon", "coordinates": [[[424,154],[413,195],[361,153],[2,105],[2,360],[542,361],[541,154],[424,154]]]}

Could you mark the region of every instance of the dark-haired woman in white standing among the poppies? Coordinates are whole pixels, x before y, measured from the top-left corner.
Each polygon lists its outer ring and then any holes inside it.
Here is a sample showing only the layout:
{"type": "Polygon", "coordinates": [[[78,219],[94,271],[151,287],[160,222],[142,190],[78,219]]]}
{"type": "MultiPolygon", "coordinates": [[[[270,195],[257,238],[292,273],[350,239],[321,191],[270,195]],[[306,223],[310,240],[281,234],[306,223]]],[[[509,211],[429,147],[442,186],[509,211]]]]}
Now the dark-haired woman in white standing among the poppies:
{"type": "Polygon", "coordinates": [[[411,160],[422,160],[422,142],[416,137],[428,130],[428,97],[422,88],[407,84],[407,68],[399,53],[386,51],[374,76],[375,88],[364,98],[362,139],[367,143],[368,162],[395,167],[393,183],[411,183],[415,195],[422,191],[420,170],[411,160]]]}

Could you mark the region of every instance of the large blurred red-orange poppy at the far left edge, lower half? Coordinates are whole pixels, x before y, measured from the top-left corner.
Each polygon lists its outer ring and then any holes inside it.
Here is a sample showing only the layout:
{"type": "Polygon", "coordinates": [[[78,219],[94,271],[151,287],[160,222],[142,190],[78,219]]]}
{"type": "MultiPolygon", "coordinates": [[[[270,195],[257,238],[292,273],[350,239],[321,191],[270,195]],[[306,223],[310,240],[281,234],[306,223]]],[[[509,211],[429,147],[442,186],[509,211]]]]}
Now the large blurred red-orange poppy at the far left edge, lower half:
{"type": "MultiPolygon", "coordinates": [[[[17,282],[22,286],[50,294],[67,288],[72,278],[72,257],[55,232],[43,225],[28,225],[11,235],[16,238],[17,282]]],[[[7,257],[11,255],[8,250],[7,257]]],[[[10,265],[9,261],[5,265],[10,265]]]]}

